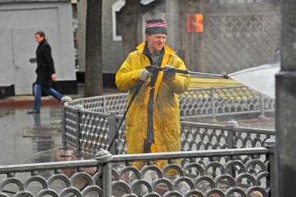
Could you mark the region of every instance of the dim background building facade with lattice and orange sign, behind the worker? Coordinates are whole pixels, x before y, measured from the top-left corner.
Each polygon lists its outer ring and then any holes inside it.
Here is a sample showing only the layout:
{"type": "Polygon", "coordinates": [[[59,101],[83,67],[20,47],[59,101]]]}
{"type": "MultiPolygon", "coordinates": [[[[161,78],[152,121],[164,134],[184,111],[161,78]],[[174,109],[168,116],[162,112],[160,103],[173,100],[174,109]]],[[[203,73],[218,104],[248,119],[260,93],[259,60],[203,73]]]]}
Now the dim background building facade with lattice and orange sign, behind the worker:
{"type": "MultiPolygon", "coordinates": [[[[114,74],[123,55],[116,13],[124,0],[102,1],[103,72],[114,74]]],[[[79,71],[85,65],[86,1],[80,0],[79,71]]],[[[168,24],[167,44],[197,72],[232,73],[273,61],[279,50],[279,0],[141,0],[138,42],[147,19],[168,24]]]]}

